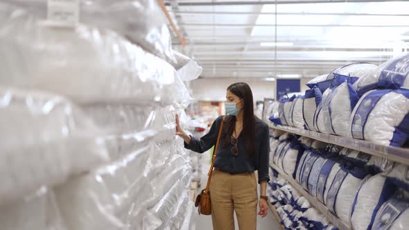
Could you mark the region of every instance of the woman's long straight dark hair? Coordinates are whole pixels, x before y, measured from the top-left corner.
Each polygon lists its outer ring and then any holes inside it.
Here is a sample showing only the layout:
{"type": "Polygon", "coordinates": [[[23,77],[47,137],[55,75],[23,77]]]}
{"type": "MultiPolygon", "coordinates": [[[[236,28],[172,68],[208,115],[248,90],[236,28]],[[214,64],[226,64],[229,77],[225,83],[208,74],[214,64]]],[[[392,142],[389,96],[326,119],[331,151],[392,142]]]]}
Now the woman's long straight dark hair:
{"type": "MultiPolygon", "coordinates": [[[[254,155],[255,139],[256,139],[256,119],[254,118],[253,93],[250,86],[245,82],[238,82],[230,85],[227,88],[232,94],[243,100],[243,137],[245,150],[248,154],[254,155]]],[[[225,148],[230,143],[230,138],[236,126],[236,116],[228,116],[225,119],[225,128],[223,135],[223,143],[225,148]]]]}

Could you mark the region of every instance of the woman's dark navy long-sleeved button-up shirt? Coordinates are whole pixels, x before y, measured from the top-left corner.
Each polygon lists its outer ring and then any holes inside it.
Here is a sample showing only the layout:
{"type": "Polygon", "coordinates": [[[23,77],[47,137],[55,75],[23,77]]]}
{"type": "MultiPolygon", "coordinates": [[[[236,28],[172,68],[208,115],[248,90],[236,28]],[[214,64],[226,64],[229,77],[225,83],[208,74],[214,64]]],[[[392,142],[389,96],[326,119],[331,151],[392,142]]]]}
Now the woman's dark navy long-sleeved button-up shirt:
{"type": "MultiPolygon", "coordinates": [[[[226,118],[227,119],[227,118],[226,118]]],[[[202,136],[200,140],[191,136],[189,145],[184,142],[184,148],[194,152],[206,152],[212,146],[216,145],[220,124],[223,121],[223,116],[219,116],[211,125],[208,134],[202,136]]],[[[227,147],[223,141],[220,141],[214,167],[223,172],[232,174],[243,172],[259,171],[259,183],[270,181],[269,177],[269,161],[270,161],[270,132],[267,123],[256,118],[256,141],[254,155],[250,155],[245,151],[243,132],[238,136],[238,154],[232,154],[232,143],[227,147]]],[[[223,134],[222,138],[223,139],[223,134]]]]}

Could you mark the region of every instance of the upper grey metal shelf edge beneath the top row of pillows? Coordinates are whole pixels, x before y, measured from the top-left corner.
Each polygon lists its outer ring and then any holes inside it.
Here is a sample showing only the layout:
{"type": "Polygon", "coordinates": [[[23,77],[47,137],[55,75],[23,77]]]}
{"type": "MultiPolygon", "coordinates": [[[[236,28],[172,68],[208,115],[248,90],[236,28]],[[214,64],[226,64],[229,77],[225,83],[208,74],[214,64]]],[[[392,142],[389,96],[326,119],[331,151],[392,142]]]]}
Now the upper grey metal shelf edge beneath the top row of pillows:
{"type": "Polygon", "coordinates": [[[301,130],[297,127],[270,125],[270,128],[290,132],[299,136],[306,136],[325,143],[340,145],[342,147],[351,148],[360,152],[375,155],[377,157],[383,157],[385,159],[390,159],[391,161],[397,161],[399,163],[409,165],[409,148],[396,148],[387,145],[380,145],[370,141],[352,139],[345,136],[336,136],[331,134],[322,134],[320,132],[313,132],[310,130],[301,130]]]}

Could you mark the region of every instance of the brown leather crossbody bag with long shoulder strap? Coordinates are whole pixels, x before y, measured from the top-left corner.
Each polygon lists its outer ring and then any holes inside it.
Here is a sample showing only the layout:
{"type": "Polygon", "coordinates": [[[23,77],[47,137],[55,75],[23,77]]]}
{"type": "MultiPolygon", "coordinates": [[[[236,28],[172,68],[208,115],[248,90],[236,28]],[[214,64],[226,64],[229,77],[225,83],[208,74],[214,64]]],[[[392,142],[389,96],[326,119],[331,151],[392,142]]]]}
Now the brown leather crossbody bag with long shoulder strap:
{"type": "Polygon", "coordinates": [[[211,166],[210,166],[209,172],[207,173],[207,175],[209,176],[209,179],[207,179],[206,188],[204,188],[202,192],[198,195],[198,197],[196,197],[196,201],[195,201],[195,206],[198,207],[199,214],[202,214],[202,215],[211,215],[211,199],[210,199],[209,186],[210,186],[210,181],[211,181],[211,174],[214,169],[214,160],[216,159],[218,144],[220,142],[220,136],[222,134],[223,123],[225,123],[224,116],[223,116],[223,121],[220,124],[220,129],[218,130],[216,146],[214,148],[213,158],[211,159],[211,166]]]}

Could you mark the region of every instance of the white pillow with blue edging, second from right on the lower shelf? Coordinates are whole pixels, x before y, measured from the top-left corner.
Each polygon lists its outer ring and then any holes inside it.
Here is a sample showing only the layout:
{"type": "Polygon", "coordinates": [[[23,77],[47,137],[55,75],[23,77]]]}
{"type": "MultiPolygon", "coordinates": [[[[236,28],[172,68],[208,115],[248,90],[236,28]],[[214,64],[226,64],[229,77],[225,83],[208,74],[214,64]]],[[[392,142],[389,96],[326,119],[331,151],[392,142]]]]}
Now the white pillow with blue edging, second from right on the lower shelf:
{"type": "Polygon", "coordinates": [[[396,191],[397,187],[381,174],[363,181],[351,209],[352,227],[371,229],[378,210],[396,191]]]}

